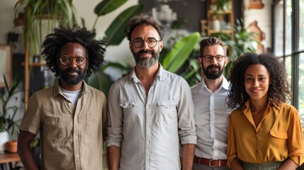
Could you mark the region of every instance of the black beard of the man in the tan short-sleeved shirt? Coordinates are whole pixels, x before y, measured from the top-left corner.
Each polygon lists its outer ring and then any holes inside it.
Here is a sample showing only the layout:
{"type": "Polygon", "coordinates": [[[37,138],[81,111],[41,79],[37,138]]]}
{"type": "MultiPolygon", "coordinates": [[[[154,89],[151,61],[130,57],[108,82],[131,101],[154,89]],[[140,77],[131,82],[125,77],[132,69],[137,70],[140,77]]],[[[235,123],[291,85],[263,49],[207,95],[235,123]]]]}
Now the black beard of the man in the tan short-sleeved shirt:
{"type": "Polygon", "coordinates": [[[81,72],[79,69],[69,68],[69,69],[65,69],[64,71],[62,69],[60,69],[59,72],[60,72],[61,79],[66,84],[69,84],[69,85],[79,84],[79,82],[81,82],[84,79],[84,77],[86,76],[86,70],[84,72],[81,72]],[[71,75],[69,75],[69,72],[77,72],[78,76],[77,77],[71,76],[71,75]]]}

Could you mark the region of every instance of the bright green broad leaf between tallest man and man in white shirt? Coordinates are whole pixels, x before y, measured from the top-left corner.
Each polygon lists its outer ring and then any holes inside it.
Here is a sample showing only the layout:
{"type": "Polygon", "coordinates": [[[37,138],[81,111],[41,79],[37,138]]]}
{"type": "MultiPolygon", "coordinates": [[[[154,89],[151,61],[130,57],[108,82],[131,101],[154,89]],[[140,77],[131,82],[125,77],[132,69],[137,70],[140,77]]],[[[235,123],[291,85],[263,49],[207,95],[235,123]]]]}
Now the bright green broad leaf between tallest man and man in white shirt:
{"type": "Polygon", "coordinates": [[[193,48],[200,38],[200,33],[196,32],[177,41],[169,52],[169,55],[164,58],[162,63],[164,69],[167,69],[169,72],[177,72],[191,55],[193,48]]]}

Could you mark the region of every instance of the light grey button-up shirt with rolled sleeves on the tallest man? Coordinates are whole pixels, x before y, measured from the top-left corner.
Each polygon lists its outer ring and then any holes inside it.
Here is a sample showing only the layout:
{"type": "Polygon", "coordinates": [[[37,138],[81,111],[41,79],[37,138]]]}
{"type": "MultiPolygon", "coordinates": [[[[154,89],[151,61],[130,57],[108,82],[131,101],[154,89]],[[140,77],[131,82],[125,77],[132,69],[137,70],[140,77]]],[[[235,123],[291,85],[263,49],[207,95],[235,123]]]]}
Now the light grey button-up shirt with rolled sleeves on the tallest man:
{"type": "Polygon", "coordinates": [[[179,146],[196,144],[187,82],[162,69],[148,94],[135,70],[108,94],[106,145],[120,147],[120,170],[181,169],[179,146]]]}

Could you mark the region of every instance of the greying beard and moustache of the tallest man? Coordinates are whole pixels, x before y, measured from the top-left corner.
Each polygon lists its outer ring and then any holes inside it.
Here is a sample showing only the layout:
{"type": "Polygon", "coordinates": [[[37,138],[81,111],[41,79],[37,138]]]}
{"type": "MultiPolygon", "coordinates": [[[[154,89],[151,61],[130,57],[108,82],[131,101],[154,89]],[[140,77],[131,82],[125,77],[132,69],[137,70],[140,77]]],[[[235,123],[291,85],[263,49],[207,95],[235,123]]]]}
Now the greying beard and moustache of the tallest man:
{"type": "Polygon", "coordinates": [[[159,52],[154,52],[153,50],[140,50],[139,52],[133,53],[133,57],[135,59],[136,64],[139,67],[142,68],[149,68],[152,67],[156,62],[158,62],[159,59],[159,52]],[[152,57],[149,60],[149,57],[140,57],[140,55],[144,54],[144,53],[149,53],[152,55],[152,57]]]}

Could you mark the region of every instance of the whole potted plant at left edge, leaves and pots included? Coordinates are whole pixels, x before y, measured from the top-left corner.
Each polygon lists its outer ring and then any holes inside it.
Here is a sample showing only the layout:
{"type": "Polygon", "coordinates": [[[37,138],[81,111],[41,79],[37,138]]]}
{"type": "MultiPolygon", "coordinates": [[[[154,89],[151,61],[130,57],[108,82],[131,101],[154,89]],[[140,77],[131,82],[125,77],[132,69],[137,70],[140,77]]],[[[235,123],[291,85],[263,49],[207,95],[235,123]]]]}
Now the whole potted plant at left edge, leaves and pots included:
{"type": "Polygon", "coordinates": [[[0,111],[0,152],[4,152],[6,148],[6,142],[8,143],[8,146],[11,146],[11,142],[13,142],[12,145],[15,146],[14,150],[11,150],[9,148],[8,152],[17,152],[16,150],[16,140],[13,140],[13,134],[15,130],[18,131],[18,123],[20,120],[15,120],[15,115],[18,111],[18,106],[11,105],[14,101],[16,101],[18,98],[16,98],[14,95],[18,93],[18,85],[20,84],[21,80],[17,80],[16,78],[13,79],[12,86],[10,87],[8,82],[6,81],[6,77],[4,76],[4,82],[5,87],[0,93],[0,100],[1,100],[1,106],[2,109],[0,111]],[[9,140],[9,137],[11,140],[9,140]]]}

